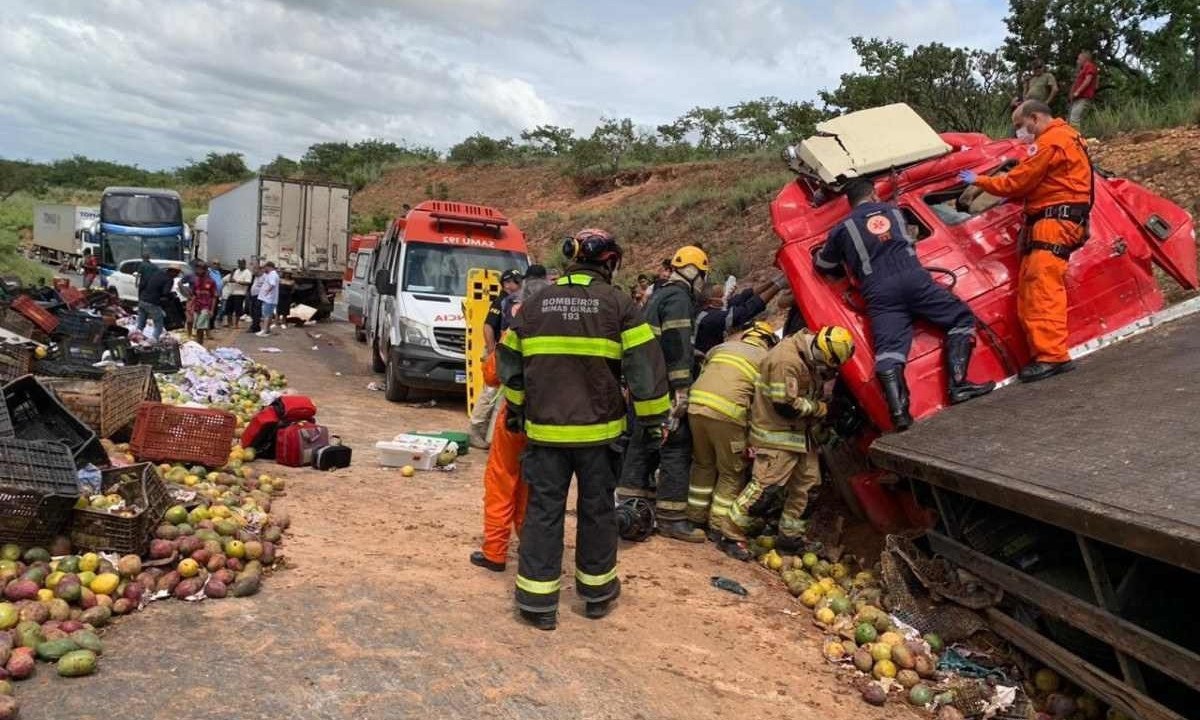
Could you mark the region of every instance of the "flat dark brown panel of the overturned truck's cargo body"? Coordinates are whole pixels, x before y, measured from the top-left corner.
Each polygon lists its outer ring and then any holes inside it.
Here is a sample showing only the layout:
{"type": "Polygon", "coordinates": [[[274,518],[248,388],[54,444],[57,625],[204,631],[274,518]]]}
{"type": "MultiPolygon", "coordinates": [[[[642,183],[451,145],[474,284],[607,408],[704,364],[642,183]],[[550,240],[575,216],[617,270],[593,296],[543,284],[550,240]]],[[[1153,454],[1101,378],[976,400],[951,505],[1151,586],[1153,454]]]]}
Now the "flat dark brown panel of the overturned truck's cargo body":
{"type": "Polygon", "coordinates": [[[878,466],[1200,572],[1200,314],[947,409],[878,466]]]}

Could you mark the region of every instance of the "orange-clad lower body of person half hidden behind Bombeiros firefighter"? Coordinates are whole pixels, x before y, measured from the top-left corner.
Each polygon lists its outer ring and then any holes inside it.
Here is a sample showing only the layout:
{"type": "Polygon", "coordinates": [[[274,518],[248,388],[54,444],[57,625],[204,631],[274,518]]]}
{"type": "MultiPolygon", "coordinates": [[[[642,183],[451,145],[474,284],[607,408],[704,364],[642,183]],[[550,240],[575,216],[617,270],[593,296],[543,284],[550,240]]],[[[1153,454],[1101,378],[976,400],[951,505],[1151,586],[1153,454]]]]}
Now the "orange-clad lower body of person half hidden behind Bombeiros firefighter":
{"type": "MultiPolygon", "coordinates": [[[[484,383],[499,388],[496,371],[496,353],[484,362],[484,383]]],[[[512,432],[504,425],[508,402],[502,400],[493,422],[492,444],[487,450],[487,468],[484,470],[484,547],[470,553],[473,565],[493,572],[504,572],[509,559],[509,540],[512,533],[521,533],[524,521],[529,486],[521,479],[521,454],[524,451],[524,433],[512,432]]]]}

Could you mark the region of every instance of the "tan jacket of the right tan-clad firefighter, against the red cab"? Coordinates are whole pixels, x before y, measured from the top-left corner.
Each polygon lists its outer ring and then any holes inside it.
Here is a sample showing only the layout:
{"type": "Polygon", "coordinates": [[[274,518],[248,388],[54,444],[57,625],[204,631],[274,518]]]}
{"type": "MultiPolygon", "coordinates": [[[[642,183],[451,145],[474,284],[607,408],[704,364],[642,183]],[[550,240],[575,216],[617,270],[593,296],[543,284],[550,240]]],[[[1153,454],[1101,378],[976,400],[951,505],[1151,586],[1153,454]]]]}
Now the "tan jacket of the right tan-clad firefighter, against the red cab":
{"type": "Polygon", "coordinates": [[[758,382],[750,403],[750,444],[755,448],[808,450],[808,430],[821,402],[821,385],[810,370],[812,334],[802,330],[785,337],[758,365],[758,382]],[[776,404],[791,407],[794,418],[776,404]]]}

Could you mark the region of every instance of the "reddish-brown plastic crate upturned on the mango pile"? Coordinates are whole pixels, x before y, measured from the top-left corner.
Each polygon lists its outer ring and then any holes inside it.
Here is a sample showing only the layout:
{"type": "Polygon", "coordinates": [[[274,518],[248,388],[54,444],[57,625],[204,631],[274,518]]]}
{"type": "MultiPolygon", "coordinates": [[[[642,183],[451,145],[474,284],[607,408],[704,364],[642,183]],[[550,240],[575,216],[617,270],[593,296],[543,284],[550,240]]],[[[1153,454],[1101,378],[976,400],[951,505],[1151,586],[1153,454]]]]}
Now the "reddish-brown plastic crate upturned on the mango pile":
{"type": "Polygon", "coordinates": [[[193,462],[220,468],[229,461],[238,420],[229,413],[144,402],[130,449],[142,461],[193,462]]]}

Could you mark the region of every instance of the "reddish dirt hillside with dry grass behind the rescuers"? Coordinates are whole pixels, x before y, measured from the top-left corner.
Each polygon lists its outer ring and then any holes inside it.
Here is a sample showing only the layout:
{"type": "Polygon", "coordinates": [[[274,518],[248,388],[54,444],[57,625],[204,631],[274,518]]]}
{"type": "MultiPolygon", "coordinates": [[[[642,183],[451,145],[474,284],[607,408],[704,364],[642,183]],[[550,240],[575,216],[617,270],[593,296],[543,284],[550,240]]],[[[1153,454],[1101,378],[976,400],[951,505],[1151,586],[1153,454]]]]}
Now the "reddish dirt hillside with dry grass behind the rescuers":
{"type": "MultiPolygon", "coordinates": [[[[1200,161],[1200,127],[1093,140],[1093,152],[1099,167],[1200,212],[1200,176],[1190,172],[1200,161]]],[[[598,226],[626,247],[618,282],[688,242],[709,251],[719,275],[743,277],[766,271],[774,259],[769,203],[790,178],[770,156],[631,169],[586,186],[553,164],[419,166],[396,169],[359,192],[354,211],[390,214],[444,194],[508,212],[548,265],[559,262],[563,236],[598,226]]]]}

